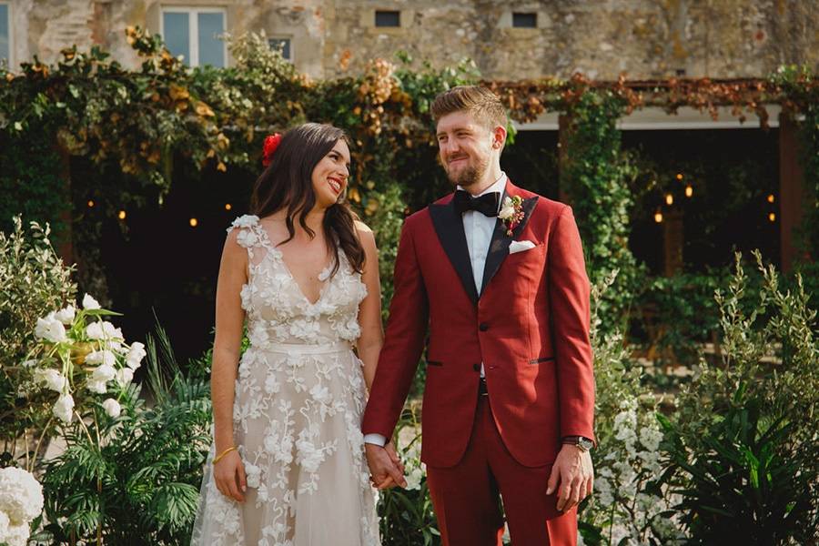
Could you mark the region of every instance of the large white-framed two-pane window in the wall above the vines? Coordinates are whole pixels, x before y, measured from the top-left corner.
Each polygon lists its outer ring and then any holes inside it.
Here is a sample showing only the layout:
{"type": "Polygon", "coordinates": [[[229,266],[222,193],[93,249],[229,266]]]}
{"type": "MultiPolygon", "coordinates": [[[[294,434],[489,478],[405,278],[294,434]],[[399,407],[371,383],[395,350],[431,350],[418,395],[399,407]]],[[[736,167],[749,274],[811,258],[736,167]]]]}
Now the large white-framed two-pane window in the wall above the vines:
{"type": "Polygon", "coordinates": [[[168,8],[162,12],[162,37],[173,56],[188,66],[226,65],[225,12],[213,8],[168,8]]]}

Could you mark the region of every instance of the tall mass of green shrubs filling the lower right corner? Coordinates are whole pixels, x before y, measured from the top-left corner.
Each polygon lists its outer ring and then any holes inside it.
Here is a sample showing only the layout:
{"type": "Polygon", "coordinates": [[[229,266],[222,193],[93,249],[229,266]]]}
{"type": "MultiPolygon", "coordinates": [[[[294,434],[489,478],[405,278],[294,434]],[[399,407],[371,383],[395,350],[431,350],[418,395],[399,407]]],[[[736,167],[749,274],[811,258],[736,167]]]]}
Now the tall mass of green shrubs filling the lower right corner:
{"type": "Polygon", "coordinates": [[[730,532],[756,537],[749,543],[819,538],[816,311],[800,277],[784,290],[773,267],[755,258],[761,289],[748,289],[737,255],[727,291],[716,294],[720,365],[701,364],[664,423],[666,480],[683,495],[678,508],[695,543],[730,532]]]}

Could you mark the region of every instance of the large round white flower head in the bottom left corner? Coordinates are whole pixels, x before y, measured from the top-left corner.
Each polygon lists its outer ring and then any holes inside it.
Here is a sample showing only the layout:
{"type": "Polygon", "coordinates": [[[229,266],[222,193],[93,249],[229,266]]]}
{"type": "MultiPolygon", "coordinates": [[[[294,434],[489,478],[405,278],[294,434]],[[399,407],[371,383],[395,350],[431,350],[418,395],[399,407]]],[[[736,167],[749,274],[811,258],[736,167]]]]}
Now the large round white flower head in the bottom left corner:
{"type": "Polygon", "coordinates": [[[43,511],[43,488],[29,472],[0,470],[0,542],[25,546],[31,522],[43,511]]]}

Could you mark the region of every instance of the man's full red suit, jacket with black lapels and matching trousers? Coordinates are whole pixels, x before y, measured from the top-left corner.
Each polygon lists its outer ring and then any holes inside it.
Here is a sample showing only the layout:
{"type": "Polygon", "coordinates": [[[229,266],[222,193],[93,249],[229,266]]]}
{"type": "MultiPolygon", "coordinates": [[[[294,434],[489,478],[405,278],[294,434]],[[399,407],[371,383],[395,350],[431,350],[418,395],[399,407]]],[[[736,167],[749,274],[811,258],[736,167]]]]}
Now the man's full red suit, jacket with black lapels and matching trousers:
{"type": "Polygon", "coordinates": [[[407,218],[362,430],[391,436],[429,327],[421,460],[444,543],[501,544],[500,492],[515,546],[575,544],[576,511],[545,490],[561,438],[593,438],[589,280],[571,207],[506,196],[525,217],[511,236],[497,221],[480,294],[452,196],[407,218]]]}

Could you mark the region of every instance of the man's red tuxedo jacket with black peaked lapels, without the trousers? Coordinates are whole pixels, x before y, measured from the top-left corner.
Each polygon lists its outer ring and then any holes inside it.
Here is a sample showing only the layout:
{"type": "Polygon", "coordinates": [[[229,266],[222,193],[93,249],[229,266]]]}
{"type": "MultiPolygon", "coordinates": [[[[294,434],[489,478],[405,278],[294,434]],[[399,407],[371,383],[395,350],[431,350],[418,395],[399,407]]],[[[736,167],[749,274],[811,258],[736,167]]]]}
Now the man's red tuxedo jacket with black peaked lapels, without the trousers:
{"type": "Polygon", "coordinates": [[[593,438],[590,287],[571,207],[511,182],[506,196],[524,199],[525,217],[511,237],[498,220],[480,294],[451,194],[401,231],[362,430],[391,436],[429,327],[421,460],[433,467],[457,464],[467,448],[481,362],[501,439],[522,465],[551,464],[564,436],[593,438]],[[535,247],[509,254],[512,240],[535,247]]]}

